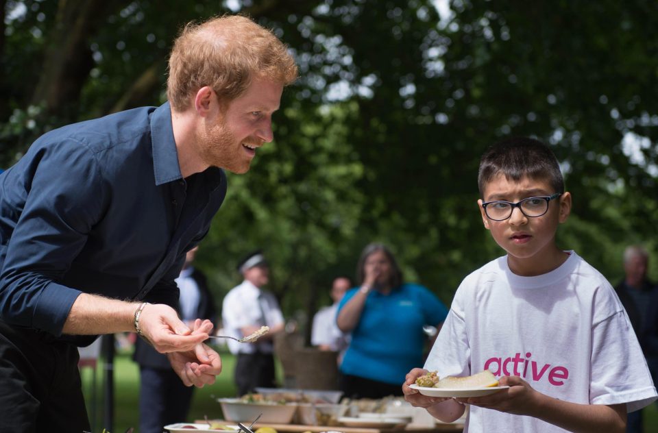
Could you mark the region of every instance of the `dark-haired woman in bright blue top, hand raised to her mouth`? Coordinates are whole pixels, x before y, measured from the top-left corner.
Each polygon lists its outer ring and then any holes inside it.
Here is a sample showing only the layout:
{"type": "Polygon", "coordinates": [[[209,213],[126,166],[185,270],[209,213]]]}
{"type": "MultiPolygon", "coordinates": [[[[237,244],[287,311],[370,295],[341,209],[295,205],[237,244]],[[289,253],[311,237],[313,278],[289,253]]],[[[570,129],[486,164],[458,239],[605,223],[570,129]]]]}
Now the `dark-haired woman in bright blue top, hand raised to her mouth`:
{"type": "Polygon", "coordinates": [[[341,363],[341,388],[350,398],[402,395],[404,375],[422,364],[424,325],[441,328],[448,308],[424,286],[402,283],[387,247],[371,243],[358,260],[359,287],[345,294],[337,323],[352,341],[341,363]]]}

